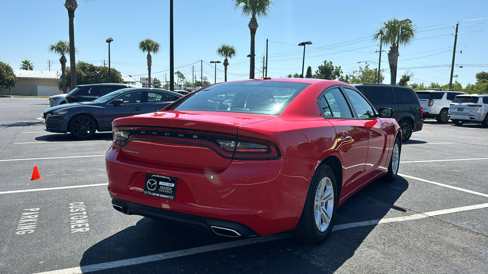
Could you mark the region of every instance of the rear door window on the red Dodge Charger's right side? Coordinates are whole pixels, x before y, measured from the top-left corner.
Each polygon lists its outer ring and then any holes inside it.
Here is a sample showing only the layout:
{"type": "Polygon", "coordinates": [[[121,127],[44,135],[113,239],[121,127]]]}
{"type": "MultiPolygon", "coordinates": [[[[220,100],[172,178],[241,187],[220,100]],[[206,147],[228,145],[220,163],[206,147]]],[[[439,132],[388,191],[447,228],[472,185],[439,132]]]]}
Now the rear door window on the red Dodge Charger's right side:
{"type": "Polygon", "coordinates": [[[319,100],[324,117],[352,118],[346,98],[338,88],[331,89],[319,100]]]}

